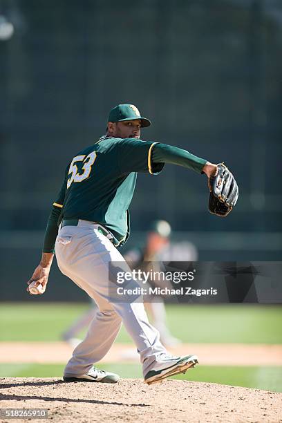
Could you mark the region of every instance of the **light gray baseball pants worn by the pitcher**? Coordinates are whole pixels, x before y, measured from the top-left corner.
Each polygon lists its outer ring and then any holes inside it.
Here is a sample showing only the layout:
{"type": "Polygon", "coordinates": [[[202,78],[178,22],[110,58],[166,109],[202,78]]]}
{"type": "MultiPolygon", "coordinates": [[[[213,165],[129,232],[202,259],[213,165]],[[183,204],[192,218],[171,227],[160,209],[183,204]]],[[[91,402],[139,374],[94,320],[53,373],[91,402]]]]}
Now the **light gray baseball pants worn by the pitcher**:
{"type": "Polygon", "coordinates": [[[90,368],[90,364],[102,359],[113,344],[122,319],[140,353],[143,372],[147,373],[156,357],[167,351],[160,343],[158,331],[149,323],[142,303],[109,303],[109,262],[124,261],[122,255],[109,239],[89,227],[63,227],[58,238],[64,237],[71,238],[71,242],[66,245],[56,242],[59,268],[95,300],[100,312],[108,313],[96,314],[66,370],[84,373],[82,368],[90,368]],[[109,315],[111,318],[106,319],[109,315]]]}

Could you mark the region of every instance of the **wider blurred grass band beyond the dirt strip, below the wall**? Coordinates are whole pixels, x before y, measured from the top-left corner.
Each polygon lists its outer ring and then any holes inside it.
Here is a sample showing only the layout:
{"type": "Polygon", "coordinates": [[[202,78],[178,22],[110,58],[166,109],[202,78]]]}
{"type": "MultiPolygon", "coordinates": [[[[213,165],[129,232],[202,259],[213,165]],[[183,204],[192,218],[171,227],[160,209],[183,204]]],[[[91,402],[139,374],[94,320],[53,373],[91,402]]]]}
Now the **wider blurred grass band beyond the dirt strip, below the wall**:
{"type": "MultiPolygon", "coordinates": [[[[82,303],[1,303],[0,341],[57,341],[79,315],[82,303]]],[[[191,343],[282,344],[282,308],[269,305],[169,305],[174,336],[191,343]]],[[[124,328],[120,342],[131,342],[124,328]]]]}

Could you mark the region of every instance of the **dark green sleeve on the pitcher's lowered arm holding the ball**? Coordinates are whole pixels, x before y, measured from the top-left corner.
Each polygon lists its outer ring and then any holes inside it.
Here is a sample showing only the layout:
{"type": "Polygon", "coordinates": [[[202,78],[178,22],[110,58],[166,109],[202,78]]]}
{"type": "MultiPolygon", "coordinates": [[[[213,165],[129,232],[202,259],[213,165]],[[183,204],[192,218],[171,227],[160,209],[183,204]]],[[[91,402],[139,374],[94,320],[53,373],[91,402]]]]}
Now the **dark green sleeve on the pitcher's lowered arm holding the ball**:
{"type": "Polygon", "coordinates": [[[64,198],[66,196],[66,176],[67,170],[64,178],[64,182],[62,187],[59,191],[57,199],[53,203],[53,207],[51,209],[50,215],[48,217],[46,232],[44,236],[44,244],[42,252],[53,253],[55,252],[55,241],[58,234],[58,220],[59,216],[62,213],[63,205],[64,205],[64,198]]]}

